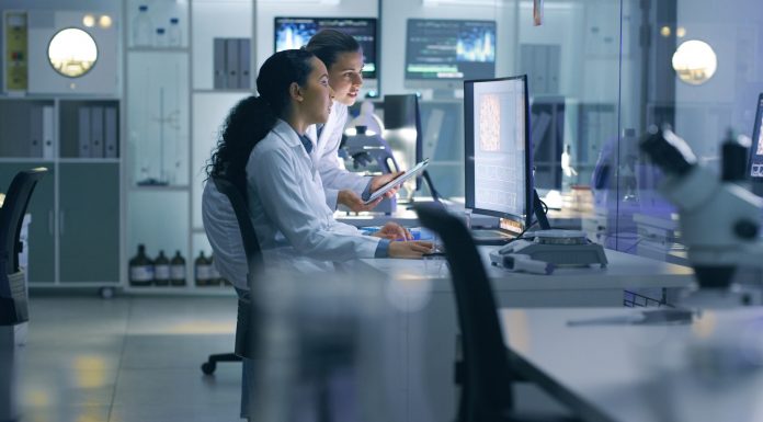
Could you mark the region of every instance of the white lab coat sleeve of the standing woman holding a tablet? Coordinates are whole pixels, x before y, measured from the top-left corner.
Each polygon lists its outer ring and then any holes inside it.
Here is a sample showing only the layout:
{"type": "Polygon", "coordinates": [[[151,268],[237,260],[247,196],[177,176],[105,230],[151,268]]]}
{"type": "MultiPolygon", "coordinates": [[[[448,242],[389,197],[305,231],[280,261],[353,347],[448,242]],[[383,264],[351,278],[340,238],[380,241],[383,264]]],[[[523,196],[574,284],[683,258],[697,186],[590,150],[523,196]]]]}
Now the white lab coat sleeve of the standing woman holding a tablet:
{"type": "MultiPolygon", "coordinates": [[[[348,119],[348,111],[346,107],[334,107],[334,110],[337,110],[337,116],[334,117],[333,129],[331,134],[322,134],[323,139],[321,140],[326,141],[326,146],[322,148],[320,157],[318,157],[317,168],[320,172],[320,178],[323,181],[323,189],[326,189],[327,194],[329,190],[350,190],[361,195],[371,178],[348,171],[339,164],[339,144],[342,141],[342,133],[344,132],[344,124],[348,119]]],[[[331,207],[327,195],[327,204],[329,204],[331,209],[335,209],[335,197],[333,201],[334,205],[331,207]]]]}

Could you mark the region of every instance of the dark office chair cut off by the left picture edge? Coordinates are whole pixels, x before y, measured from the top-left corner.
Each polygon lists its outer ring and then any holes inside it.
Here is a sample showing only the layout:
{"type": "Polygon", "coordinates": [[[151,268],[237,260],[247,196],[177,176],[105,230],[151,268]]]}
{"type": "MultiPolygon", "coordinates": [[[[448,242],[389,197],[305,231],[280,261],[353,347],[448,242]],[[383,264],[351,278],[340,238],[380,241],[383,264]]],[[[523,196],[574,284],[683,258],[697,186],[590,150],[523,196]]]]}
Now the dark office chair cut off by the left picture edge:
{"type": "Polygon", "coordinates": [[[30,319],[24,273],[19,267],[20,235],[32,192],[45,173],[44,167],[20,171],[0,208],[0,326],[16,326],[30,319]]]}

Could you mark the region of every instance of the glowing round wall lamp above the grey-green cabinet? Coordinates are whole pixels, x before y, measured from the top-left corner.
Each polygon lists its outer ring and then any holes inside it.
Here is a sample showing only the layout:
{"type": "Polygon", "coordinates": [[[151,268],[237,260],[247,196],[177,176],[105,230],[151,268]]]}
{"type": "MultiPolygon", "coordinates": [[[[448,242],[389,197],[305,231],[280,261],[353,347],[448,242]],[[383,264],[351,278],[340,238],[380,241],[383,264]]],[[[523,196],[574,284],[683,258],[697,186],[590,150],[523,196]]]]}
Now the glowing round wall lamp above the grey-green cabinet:
{"type": "Polygon", "coordinates": [[[98,46],[87,32],[68,27],[56,33],[48,44],[48,61],[60,75],[79,78],[93,68],[98,46]]]}

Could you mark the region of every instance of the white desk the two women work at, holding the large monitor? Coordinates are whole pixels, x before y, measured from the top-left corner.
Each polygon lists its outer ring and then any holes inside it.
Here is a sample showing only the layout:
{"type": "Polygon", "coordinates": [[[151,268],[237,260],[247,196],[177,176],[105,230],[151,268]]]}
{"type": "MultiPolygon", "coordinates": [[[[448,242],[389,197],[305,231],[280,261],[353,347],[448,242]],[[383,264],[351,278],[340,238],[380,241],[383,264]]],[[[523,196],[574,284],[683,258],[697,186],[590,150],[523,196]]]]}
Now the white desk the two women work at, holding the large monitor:
{"type": "MultiPolygon", "coordinates": [[[[482,247],[488,262],[494,247],[482,247]]],[[[687,287],[691,269],[622,252],[605,251],[606,269],[559,269],[554,275],[511,273],[488,267],[496,300],[501,307],[615,307],[623,306],[623,290],[687,287]]],[[[397,318],[402,350],[400,377],[403,394],[396,407],[407,409],[398,420],[429,422],[452,420],[456,411],[453,384],[456,313],[449,273],[444,261],[358,260],[353,274],[366,272],[388,277],[405,298],[397,318]]]]}

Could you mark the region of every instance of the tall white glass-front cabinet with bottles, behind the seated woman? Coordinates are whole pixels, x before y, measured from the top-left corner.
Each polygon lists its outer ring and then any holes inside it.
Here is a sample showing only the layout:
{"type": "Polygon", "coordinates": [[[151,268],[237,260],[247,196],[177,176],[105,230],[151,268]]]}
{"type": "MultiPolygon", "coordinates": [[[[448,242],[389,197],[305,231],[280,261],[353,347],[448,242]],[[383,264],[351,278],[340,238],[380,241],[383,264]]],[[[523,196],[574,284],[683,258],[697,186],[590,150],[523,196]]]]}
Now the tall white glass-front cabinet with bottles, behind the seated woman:
{"type": "Polygon", "coordinates": [[[201,219],[204,166],[228,110],[251,91],[214,89],[213,45],[216,37],[251,37],[252,3],[126,0],[124,8],[127,215],[123,280],[130,292],[218,290],[194,285],[194,259],[201,251],[206,256],[212,252],[201,219]],[[147,5],[148,20],[156,27],[176,19],[180,42],[136,45],[132,37],[140,5],[147,5]],[[186,262],[186,285],[129,286],[128,262],[138,244],[146,247],[150,259],[160,251],[169,258],[179,251],[186,262]]]}

